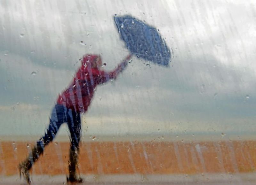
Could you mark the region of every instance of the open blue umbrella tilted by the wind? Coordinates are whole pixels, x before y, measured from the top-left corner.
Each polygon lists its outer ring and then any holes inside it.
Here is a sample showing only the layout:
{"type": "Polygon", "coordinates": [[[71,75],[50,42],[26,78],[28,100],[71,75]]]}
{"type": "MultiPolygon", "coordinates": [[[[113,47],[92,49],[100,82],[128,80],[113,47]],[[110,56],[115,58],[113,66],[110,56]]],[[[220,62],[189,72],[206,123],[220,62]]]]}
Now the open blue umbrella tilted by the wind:
{"type": "Polygon", "coordinates": [[[171,52],[155,27],[130,16],[115,16],[116,27],[133,55],[158,65],[169,66],[171,52]]]}

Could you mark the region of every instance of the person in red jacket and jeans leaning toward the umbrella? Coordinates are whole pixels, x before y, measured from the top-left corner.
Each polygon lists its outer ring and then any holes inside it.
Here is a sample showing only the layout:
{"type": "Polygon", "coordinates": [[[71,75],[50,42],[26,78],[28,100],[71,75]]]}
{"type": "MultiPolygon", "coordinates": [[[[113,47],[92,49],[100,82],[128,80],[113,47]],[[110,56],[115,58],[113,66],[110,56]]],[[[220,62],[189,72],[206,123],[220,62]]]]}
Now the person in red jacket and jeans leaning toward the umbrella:
{"type": "MultiPolygon", "coordinates": [[[[67,177],[67,181],[83,182],[83,179],[76,174],[81,138],[80,113],[87,111],[96,86],[116,79],[118,74],[126,68],[131,56],[128,55],[111,72],[101,70],[102,61],[100,55],[83,56],[81,59],[82,66],[76,72],[73,81],[57,99],[45,135],[37,141],[28,158],[19,164],[20,177],[23,175],[25,180],[30,183],[29,170],[38,160],[39,156],[43,154],[45,146],[52,142],[61,124],[66,122],[70,131],[69,177],[67,177]]],[[[104,63],[104,65],[106,64],[104,63]]]]}

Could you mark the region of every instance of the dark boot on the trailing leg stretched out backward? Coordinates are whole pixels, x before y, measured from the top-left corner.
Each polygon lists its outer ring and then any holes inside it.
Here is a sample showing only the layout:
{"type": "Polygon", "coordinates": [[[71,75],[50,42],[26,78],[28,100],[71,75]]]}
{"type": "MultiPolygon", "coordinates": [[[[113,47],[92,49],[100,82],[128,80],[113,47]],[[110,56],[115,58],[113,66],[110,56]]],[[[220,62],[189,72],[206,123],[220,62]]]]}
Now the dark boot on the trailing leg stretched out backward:
{"type": "Polygon", "coordinates": [[[40,146],[34,147],[32,149],[32,152],[29,154],[28,158],[26,158],[18,166],[20,171],[20,178],[22,175],[28,184],[30,184],[29,170],[32,168],[33,164],[37,161],[37,159],[43,153],[43,151],[44,150],[40,146]]]}

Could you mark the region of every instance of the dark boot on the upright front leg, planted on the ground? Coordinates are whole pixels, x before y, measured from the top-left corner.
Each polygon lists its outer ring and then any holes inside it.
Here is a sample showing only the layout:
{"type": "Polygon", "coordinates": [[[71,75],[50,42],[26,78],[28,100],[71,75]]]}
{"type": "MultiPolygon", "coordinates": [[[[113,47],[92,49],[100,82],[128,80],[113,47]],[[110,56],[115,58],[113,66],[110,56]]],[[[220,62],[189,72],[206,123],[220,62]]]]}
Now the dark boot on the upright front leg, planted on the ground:
{"type": "Polygon", "coordinates": [[[69,153],[69,165],[68,165],[68,170],[69,170],[69,178],[67,178],[68,182],[76,182],[76,183],[82,183],[83,179],[78,177],[76,174],[76,167],[78,163],[78,154],[79,150],[78,149],[72,149],[70,147],[70,153],[69,153]]]}

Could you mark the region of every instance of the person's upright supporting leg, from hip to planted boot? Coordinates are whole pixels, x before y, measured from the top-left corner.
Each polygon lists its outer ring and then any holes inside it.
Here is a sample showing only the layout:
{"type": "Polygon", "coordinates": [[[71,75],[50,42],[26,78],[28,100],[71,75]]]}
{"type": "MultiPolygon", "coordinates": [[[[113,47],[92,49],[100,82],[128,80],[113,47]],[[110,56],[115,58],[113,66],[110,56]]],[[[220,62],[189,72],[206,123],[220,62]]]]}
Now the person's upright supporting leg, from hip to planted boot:
{"type": "Polygon", "coordinates": [[[67,123],[70,131],[70,153],[69,153],[69,178],[70,182],[83,182],[76,174],[78,164],[79,142],[81,138],[80,113],[69,110],[67,113],[67,123]]]}

